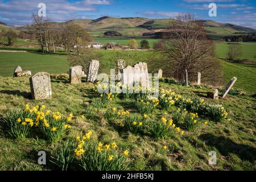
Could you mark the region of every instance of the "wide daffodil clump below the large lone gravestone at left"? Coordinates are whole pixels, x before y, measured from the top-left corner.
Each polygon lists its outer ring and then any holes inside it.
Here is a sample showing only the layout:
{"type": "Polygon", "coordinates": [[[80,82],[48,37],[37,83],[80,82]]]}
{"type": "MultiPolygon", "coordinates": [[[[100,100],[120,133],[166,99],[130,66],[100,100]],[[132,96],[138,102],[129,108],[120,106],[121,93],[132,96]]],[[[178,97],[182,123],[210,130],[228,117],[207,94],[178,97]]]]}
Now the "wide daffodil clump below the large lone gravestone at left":
{"type": "Polygon", "coordinates": [[[38,128],[49,142],[56,142],[71,128],[68,122],[72,117],[73,114],[65,118],[59,112],[52,113],[44,105],[30,107],[26,104],[23,110],[7,113],[5,121],[15,138],[26,138],[31,129],[38,128]]]}

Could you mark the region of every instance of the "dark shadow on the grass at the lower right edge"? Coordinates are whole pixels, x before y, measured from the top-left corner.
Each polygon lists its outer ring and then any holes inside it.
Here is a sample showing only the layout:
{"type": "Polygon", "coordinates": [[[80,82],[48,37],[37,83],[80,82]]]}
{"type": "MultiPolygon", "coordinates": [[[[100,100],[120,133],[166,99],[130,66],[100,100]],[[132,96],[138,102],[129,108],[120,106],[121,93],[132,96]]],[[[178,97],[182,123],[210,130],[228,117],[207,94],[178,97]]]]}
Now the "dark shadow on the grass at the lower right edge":
{"type": "Polygon", "coordinates": [[[217,137],[212,134],[202,134],[199,139],[205,141],[210,147],[216,147],[218,151],[227,156],[230,153],[236,154],[241,160],[248,160],[254,163],[256,160],[256,148],[246,144],[238,144],[226,137],[217,137]]]}

